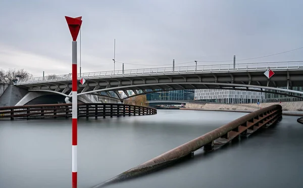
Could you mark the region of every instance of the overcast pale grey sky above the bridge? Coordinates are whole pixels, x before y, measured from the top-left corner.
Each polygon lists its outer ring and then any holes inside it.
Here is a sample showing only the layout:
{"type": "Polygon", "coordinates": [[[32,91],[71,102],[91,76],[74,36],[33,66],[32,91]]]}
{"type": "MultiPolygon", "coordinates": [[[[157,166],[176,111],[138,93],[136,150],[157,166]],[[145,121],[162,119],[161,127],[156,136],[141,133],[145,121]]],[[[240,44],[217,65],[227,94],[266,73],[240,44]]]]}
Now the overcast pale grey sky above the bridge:
{"type": "MultiPolygon", "coordinates": [[[[116,60],[140,64],[125,69],[271,55],[303,46],[302,7],[301,0],[3,0],[0,69],[70,73],[64,16],[82,16],[82,72],[113,70],[115,38],[116,60]]],[[[300,60],[303,49],[237,63],[300,60]]]]}

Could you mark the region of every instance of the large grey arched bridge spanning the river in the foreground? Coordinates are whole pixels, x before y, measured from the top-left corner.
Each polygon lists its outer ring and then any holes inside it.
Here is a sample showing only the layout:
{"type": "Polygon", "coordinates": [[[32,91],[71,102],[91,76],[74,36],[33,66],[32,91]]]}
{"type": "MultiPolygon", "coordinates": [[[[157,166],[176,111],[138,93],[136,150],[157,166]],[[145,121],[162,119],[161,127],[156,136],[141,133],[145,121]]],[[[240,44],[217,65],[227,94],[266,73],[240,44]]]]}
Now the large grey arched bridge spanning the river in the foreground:
{"type": "MultiPolygon", "coordinates": [[[[79,97],[90,94],[114,98],[109,93],[112,91],[121,102],[151,92],[184,89],[251,90],[303,98],[302,91],[292,90],[293,86],[303,86],[302,61],[236,64],[235,68],[233,64],[223,64],[90,72],[78,74],[81,78],[86,82],[78,84],[79,97]],[[270,79],[264,75],[268,68],[275,72],[270,79]],[[127,97],[122,98],[120,90],[127,97]],[[127,90],[134,95],[129,96],[127,90]]],[[[36,98],[34,92],[41,93],[39,96],[53,93],[65,97],[66,103],[71,101],[71,74],[21,79],[15,86],[30,91],[19,105],[36,98]]]]}

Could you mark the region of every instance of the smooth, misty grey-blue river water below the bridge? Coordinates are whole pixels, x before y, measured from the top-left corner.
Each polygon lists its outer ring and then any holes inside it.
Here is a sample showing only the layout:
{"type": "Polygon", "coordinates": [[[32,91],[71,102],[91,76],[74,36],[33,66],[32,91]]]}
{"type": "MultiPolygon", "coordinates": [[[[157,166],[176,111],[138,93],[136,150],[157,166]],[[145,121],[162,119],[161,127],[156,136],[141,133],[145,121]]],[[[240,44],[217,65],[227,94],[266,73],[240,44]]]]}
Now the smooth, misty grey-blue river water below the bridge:
{"type": "MultiPolygon", "coordinates": [[[[158,110],[80,119],[78,187],[91,187],[245,113],[158,110]]],[[[238,144],[108,187],[303,187],[303,125],[283,116],[238,144]]],[[[71,119],[0,121],[0,187],[71,187],[71,119]]]]}

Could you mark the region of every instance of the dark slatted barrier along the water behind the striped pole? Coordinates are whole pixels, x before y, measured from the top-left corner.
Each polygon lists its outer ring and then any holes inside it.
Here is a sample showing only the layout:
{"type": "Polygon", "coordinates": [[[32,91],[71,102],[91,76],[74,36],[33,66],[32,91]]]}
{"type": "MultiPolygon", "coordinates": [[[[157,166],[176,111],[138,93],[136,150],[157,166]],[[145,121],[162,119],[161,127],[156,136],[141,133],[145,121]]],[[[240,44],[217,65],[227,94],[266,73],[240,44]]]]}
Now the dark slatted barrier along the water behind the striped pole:
{"type": "MultiPolygon", "coordinates": [[[[150,107],[109,104],[109,103],[83,103],[78,104],[78,117],[113,117],[113,116],[136,116],[154,115],[157,110],[150,107]]],[[[26,105],[0,107],[0,119],[30,119],[47,117],[71,117],[72,104],[52,105],[26,105]]]]}

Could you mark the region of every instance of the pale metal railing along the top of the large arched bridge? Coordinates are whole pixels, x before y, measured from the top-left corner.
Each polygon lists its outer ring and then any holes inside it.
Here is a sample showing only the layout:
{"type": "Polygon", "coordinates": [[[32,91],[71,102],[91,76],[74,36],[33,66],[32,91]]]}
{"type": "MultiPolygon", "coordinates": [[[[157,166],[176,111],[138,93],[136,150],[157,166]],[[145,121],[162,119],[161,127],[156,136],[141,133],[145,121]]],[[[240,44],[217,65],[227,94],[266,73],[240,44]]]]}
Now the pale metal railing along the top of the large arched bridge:
{"type": "MultiPolygon", "coordinates": [[[[139,76],[139,75],[163,75],[163,74],[184,74],[184,73],[203,73],[203,72],[226,72],[226,71],[249,71],[249,70],[284,70],[284,69],[303,69],[302,61],[292,62],[266,62],[266,63],[245,63],[222,65],[199,65],[199,66],[182,66],[182,67],[158,67],[146,69],[130,69],[117,71],[102,71],[102,72],[88,72],[82,73],[81,77],[89,78],[105,78],[105,77],[123,77],[123,76],[139,76]]],[[[80,74],[77,75],[80,79],[80,74]]],[[[64,81],[71,80],[72,74],[54,75],[46,77],[34,77],[27,79],[20,79],[16,84],[26,84],[34,82],[49,82],[49,81],[64,81]]]]}

